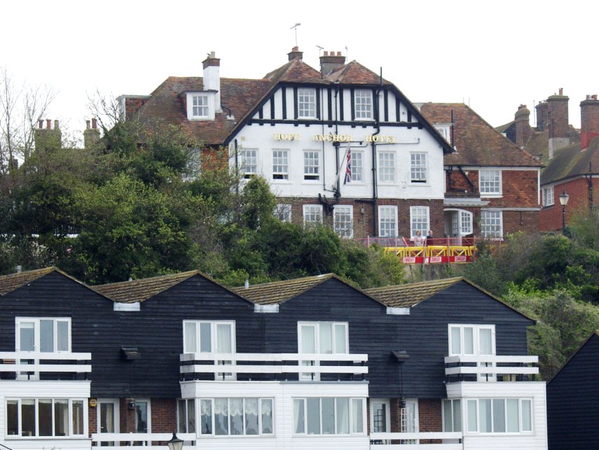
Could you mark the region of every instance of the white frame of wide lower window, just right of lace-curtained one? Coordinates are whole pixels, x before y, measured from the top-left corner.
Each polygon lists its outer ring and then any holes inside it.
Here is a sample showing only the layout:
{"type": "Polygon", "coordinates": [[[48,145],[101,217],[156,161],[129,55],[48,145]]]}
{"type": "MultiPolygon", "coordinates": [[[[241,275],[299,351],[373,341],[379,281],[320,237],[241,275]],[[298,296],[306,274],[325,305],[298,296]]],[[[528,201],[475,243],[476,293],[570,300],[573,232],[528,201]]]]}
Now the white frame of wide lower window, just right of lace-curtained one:
{"type": "MultiPolygon", "coordinates": [[[[292,402],[293,402],[293,416],[292,416],[292,428],[293,428],[293,435],[294,436],[364,436],[366,435],[366,398],[364,397],[343,397],[343,396],[339,396],[339,395],[330,395],[330,396],[319,396],[319,397],[293,397],[291,398],[292,402]],[[319,404],[319,433],[308,433],[308,400],[318,400],[318,404],[319,404]],[[334,423],[334,432],[333,433],[322,433],[322,400],[324,399],[333,399],[333,423],[334,423]],[[338,403],[338,399],[340,400],[347,400],[347,405],[348,405],[348,409],[347,409],[347,419],[348,419],[348,428],[347,430],[349,431],[349,433],[338,433],[338,416],[337,416],[337,403],[338,403]],[[362,421],[362,431],[354,431],[354,400],[359,400],[359,402],[362,402],[362,417],[361,417],[361,421],[362,421]],[[303,414],[302,414],[302,419],[303,419],[303,433],[297,433],[296,431],[296,423],[298,423],[298,418],[296,418],[295,414],[295,410],[296,410],[296,402],[302,402],[303,403],[303,414]]],[[[357,416],[356,416],[357,418],[357,416]]]]}

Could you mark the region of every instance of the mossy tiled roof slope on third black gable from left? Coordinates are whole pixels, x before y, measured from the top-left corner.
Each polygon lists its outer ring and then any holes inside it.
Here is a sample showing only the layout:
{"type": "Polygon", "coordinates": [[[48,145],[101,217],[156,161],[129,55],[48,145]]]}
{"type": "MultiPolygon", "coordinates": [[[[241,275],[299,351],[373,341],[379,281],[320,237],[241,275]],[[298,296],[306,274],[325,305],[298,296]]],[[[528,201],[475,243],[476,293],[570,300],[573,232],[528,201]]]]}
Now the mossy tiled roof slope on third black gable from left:
{"type": "Polygon", "coordinates": [[[233,290],[257,304],[278,304],[331,278],[336,278],[336,276],[334,274],[305,276],[293,280],[256,284],[247,289],[244,287],[234,288],[233,290]]]}

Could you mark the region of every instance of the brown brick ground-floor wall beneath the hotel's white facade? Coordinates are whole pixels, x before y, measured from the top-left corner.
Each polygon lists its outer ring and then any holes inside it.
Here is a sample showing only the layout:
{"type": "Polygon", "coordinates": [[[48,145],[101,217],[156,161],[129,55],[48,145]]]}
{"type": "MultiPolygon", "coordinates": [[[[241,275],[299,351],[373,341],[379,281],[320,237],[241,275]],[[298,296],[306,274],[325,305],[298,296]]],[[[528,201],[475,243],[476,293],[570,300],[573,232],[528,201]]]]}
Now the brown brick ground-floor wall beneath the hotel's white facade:
{"type": "MultiPolygon", "coordinates": [[[[303,223],[303,205],[319,204],[315,198],[277,198],[278,204],[291,204],[291,221],[297,224],[303,223]]],[[[352,205],[354,211],[354,237],[365,238],[378,236],[378,223],[373,224],[374,207],[369,199],[342,199],[340,205],[352,205]]],[[[399,236],[411,237],[410,235],[410,206],[428,206],[429,207],[429,227],[432,228],[437,236],[443,235],[443,200],[427,199],[379,199],[378,206],[393,205],[397,206],[398,233],[399,236]]],[[[326,206],[323,205],[324,224],[333,226],[333,214],[326,213],[326,206]]],[[[378,213],[377,213],[378,217],[378,213]]]]}

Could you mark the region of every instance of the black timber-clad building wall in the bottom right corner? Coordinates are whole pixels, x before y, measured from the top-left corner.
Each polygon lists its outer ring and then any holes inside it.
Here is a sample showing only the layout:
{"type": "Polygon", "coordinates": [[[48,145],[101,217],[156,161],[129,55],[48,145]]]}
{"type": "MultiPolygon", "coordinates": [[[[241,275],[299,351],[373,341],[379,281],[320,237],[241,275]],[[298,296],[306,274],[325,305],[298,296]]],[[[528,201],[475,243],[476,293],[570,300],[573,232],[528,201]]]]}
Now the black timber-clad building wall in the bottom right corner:
{"type": "Polygon", "coordinates": [[[593,333],[547,384],[550,450],[598,449],[599,336],[593,333]]]}

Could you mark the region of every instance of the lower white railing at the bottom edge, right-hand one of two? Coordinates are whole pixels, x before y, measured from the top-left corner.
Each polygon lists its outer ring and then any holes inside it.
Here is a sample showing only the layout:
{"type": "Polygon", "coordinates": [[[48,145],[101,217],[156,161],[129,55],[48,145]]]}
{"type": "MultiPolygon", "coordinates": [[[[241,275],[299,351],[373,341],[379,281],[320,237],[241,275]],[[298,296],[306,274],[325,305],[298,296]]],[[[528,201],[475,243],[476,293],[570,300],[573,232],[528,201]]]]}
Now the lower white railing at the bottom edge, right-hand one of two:
{"type": "Polygon", "coordinates": [[[462,432],[371,433],[371,450],[462,450],[462,432]],[[434,441],[435,443],[431,443],[434,441]],[[450,441],[450,442],[448,442],[450,441]]]}

